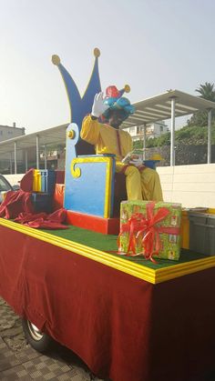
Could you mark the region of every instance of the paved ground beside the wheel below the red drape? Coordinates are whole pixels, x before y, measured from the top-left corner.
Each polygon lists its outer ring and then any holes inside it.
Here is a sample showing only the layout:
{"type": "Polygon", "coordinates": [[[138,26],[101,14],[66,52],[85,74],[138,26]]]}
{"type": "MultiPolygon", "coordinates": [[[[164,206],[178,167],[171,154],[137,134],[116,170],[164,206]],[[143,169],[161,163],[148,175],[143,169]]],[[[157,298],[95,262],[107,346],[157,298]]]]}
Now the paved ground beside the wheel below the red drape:
{"type": "Polygon", "coordinates": [[[26,343],[21,319],[0,298],[1,381],[105,381],[93,375],[82,360],[64,346],[42,355],[26,343]]]}

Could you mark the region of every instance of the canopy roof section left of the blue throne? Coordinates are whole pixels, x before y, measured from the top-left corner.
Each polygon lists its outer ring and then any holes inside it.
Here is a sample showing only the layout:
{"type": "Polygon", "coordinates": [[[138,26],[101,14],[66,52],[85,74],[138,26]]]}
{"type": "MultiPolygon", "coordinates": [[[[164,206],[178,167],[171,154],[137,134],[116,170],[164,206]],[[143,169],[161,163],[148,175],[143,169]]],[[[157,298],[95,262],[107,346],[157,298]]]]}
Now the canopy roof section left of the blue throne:
{"type": "Polygon", "coordinates": [[[14,152],[15,142],[17,145],[17,150],[25,150],[27,148],[36,146],[36,136],[38,136],[39,138],[40,146],[54,144],[65,145],[67,125],[57,125],[56,127],[47,128],[46,130],[39,131],[33,134],[16,136],[12,139],[0,142],[0,155],[3,156],[9,152],[14,152]]]}

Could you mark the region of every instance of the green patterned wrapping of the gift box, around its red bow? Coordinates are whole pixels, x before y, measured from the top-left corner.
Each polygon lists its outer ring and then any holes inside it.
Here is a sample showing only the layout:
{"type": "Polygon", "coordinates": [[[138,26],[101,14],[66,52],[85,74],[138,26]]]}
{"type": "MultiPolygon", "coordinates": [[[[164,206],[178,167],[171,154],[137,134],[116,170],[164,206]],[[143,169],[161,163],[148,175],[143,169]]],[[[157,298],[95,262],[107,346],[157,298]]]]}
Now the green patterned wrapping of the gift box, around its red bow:
{"type": "MultiPolygon", "coordinates": [[[[165,215],[165,214],[164,214],[165,215]]],[[[151,201],[122,201],[120,205],[120,236],[119,236],[119,251],[121,253],[128,253],[128,244],[130,242],[130,221],[133,220],[136,223],[136,229],[134,229],[133,239],[135,242],[135,252],[136,254],[142,253],[148,257],[146,253],[145,246],[142,244],[142,239],[144,236],[148,236],[150,233],[145,230],[143,234],[138,234],[141,229],[141,217],[145,219],[145,223],[149,226],[153,225],[152,229],[156,234],[154,235],[154,241],[152,246],[157,246],[159,239],[159,253],[153,254],[153,257],[159,257],[163,259],[179,260],[180,254],[180,235],[179,227],[181,221],[181,205],[173,203],[164,202],[151,202],[151,201]],[[153,218],[157,218],[160,214],[164,214],[164,209],[166,211],[166,216],[164,216],[161,221],[156,224],[150,224],[150,217],[148,215],[148,209],[151,210],[151,215],[153,218]],[[137,220],[137,221],[136,221],[137,220]],[[147,222],[146,222],[147,221],[147,222]],[[138,237],[137,237],[138,236],[138,237]],[[159,238],[158,238],[159,236],[159,238]]],[[[152,239],[152,238],[150,238],[152,239]]],[[[134,253],[133,253],[134,254],[134,253]]]]}

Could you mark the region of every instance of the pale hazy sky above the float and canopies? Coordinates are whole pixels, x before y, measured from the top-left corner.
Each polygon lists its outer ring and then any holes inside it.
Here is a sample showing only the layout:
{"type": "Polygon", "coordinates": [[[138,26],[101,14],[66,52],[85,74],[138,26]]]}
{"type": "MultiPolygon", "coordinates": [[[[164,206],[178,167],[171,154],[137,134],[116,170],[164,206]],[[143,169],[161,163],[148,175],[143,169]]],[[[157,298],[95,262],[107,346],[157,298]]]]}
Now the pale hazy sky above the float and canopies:
{"type": "MultiPolygon", "coordinates": [[[[214,0],[0,0],[0,125],[69,123],[59,55],[83,94],[98,47],[102,88],[136,102],[215,80],[214,0]]],[[[178,122],[178,128],[179,128],[178,122]]]]}

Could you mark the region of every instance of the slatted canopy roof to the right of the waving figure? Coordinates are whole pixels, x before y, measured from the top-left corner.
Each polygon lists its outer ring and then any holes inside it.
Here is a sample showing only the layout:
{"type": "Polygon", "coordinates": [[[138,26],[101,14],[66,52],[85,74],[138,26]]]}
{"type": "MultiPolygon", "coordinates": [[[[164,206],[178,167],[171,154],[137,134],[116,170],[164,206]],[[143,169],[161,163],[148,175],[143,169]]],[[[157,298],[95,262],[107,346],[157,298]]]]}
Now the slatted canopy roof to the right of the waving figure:
{"type": "Polygon", "coordinates": [[[121,128],[128,128],[135,125],[145,125],[166,120],[171,117],[171,99],[175,98],[175,116],[194,114],[199,110],[215,108],[215,103],[189,95],[179,90],[169,90],[164,94],[136,102],[135,113],[121,125],[121,128]]]}

